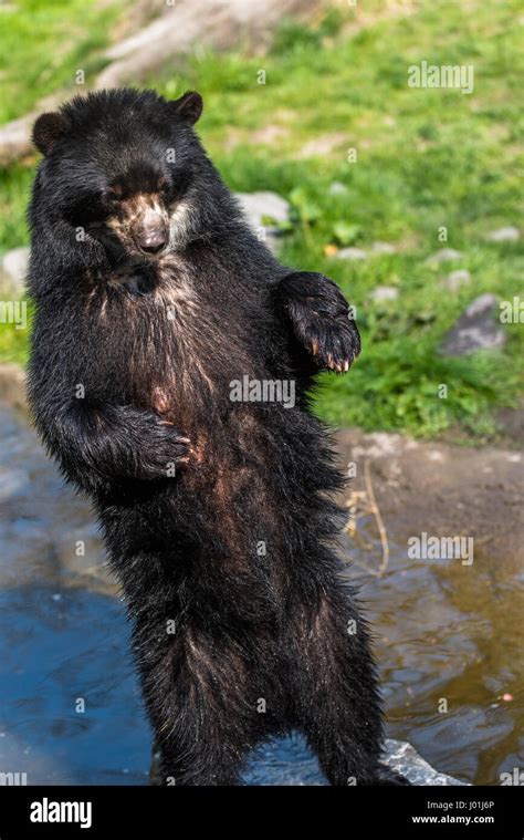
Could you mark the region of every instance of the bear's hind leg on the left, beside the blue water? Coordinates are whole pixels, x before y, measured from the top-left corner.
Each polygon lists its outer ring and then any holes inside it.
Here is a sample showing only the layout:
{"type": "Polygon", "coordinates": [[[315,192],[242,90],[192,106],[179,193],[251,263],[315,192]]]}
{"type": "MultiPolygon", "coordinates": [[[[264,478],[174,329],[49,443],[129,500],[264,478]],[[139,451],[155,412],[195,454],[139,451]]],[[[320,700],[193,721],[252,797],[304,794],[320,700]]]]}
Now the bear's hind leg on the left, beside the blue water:
{"type": "MultiPolygon", "coordinates": [[[[157,636],[158,639],[158,636],[157,636]]],[[[258,742],[245,663],[224,640],[181,630],[155,645],[143,636],[143,692],[160,754],[160,785],[235,785],[258,742]]]]}

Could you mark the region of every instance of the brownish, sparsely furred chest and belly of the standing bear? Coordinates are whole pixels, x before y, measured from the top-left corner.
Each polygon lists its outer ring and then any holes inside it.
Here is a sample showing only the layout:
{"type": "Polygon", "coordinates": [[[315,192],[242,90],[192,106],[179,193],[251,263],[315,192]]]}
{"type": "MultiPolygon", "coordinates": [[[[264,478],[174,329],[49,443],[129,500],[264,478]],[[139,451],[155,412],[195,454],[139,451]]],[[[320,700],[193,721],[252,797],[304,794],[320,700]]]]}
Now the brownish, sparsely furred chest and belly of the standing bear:
{"type": "MultiPolygon", "coordinates": [[[[244,301],[235,308],[221,289],[200,291],[184,272],[168,280],[144,290],[128,278],[120,289],[116,332],[127,398],[189,438],[191,457],[177,490],[207,518],[228,523],[229,551],[242,554],[244,526],[254,517],[269,531],[279,512],[269,469],[280,457],[279,424],[266,406],[237,393],[245,377],[271,375],[256,353],[263,319],[244,301]]],[[[281,413],[277,404],[273,408],[281,413]]]]}

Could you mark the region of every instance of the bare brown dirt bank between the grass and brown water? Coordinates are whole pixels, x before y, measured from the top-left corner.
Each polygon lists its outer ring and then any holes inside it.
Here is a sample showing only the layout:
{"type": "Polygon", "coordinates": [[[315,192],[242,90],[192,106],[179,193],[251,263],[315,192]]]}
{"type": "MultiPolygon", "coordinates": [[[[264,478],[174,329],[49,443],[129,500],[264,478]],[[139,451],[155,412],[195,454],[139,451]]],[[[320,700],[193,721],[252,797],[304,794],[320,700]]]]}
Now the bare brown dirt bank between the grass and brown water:
{"type": "Polygon", "coordinates": [[[422,531],[473,537],[475,554],[495,554],[512,567],[522,564],[524,457],[520,452],[358,429],[343,429],[336,440],[346,474],[352,476],[345,498],[359,491],[368,497],[364,469],[368,462],[388,539],[406,545],[422,531]],[[350,464],[355,466],[348,473],[350,464]]]}

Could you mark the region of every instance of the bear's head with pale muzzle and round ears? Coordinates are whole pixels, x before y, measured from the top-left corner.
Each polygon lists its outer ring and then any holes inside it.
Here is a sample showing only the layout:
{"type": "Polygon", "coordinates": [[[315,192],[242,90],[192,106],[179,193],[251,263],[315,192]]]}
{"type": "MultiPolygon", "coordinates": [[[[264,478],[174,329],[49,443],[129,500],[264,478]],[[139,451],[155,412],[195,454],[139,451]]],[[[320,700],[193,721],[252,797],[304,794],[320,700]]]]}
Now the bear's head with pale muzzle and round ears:
{"type": "MultiPolygon", "coordinates": [[[[82,245],[117,261],[155,262],[217,218],[221,182],[192,131],[202,111],[189,91],[166,101],[153,91],[76,97],[42,114],[33,142],[44,155],[31,218],[66,225],[82,245]]],[[[223,188],[223,185],[222,185],[223,188]]]]}

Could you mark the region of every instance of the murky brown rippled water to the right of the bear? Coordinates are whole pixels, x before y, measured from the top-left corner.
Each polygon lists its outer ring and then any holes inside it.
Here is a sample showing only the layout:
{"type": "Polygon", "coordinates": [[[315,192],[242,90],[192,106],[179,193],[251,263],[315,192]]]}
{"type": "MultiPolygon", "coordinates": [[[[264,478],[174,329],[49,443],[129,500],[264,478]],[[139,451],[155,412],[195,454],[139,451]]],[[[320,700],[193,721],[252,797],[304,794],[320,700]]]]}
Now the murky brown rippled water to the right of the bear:
{"type": "MultiPolygon", "coordinates": [[[[392,737],[478,785],[524,767],[522,567],[475,552],[475,570],[395,550],[382,579],[358,573],[392,737]],[[447,711],[444,711],[447,708],[447,711]]],[[[355,577],[355,574],[352,574],[355,577]]]]}

